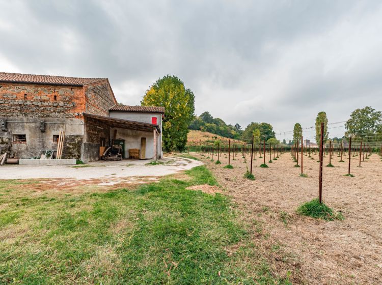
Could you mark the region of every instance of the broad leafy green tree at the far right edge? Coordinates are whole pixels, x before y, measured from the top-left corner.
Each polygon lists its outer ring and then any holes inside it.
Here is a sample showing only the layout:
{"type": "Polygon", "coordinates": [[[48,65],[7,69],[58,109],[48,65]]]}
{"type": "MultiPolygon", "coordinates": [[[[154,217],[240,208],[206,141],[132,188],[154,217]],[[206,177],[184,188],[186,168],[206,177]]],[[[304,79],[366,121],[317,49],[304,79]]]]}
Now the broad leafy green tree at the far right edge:
{"type": "Polygon", "coordinates": [[[351,112],[350,119],[345,123],[346,136],[356,141],[371,143],[382,128],[382,113],[366,106],[351,112]]]}

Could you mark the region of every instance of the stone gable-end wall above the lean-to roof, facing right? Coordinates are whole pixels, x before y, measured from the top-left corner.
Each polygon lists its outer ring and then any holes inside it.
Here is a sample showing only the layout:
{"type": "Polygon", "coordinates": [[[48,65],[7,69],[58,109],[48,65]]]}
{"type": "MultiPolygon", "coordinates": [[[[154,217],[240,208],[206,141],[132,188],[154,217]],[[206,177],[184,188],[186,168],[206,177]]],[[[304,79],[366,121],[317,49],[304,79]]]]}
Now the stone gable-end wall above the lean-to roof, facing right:
{"type": "Polygon", "coordinates": [[[107,81],[84,87],[87,113],[109,116],[109,109],[117,104],[107,81]]]}

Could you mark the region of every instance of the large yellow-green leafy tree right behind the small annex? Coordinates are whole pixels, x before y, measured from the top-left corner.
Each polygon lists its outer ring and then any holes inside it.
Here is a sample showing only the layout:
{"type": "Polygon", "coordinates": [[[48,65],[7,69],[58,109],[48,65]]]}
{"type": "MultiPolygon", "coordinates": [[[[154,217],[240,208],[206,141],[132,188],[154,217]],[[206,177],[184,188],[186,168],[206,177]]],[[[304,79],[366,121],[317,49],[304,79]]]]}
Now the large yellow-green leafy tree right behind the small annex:
{"type": "Polygon", "coordinates": [[[188,126],[194,119],[194,93],[178,77],[167,75],[147,90],[141,105],[165,107],[163,148],[182,151],[187,143],[188,126]]]}

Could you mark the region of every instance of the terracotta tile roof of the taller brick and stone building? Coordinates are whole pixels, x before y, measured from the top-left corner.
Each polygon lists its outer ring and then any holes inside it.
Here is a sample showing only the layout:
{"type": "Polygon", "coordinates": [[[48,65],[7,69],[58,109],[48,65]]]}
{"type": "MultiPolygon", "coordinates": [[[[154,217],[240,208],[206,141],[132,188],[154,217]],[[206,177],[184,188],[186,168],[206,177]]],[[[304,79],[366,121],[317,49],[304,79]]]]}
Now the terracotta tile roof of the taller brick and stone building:
{"type": "Polygon", "coordinates": [[[9,82],[42,83],[42,84],[54,84],[54,85],[68,85],[68,86],[84,86],[84,85],[89,85],[92,83],[97,83],[97,82],[101,82],[105,80],[107,80],[107,78],[80,78],[80,77],[0,72],[0,82],[9,81],[9,82]]]}

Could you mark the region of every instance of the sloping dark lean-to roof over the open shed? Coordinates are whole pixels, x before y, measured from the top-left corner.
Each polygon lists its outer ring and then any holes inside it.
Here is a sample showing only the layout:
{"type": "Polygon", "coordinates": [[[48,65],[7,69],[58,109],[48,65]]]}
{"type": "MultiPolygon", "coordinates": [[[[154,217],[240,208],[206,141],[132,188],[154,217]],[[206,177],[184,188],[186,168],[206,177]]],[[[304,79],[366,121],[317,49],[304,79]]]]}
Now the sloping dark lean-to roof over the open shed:
{"type": "Polygon", "coordinates": [[[83,113],[83,115],[84,115],[84,118],[90,118],[95,121],[102,122],[103,124],[113,128],[122,128],[122,129],[144,131],[144,132],[151,132],[153,131],[154,128],[156,128],[157,131],[160,133],[159,126],[155,124],[129,121],[129,120],[123,120],[123,119],[117,119],[117,118],[111,118],[111,117],[105,117],[105,116],[98,116],[98,115],[92,115],[88,113],[83,113]]]}

